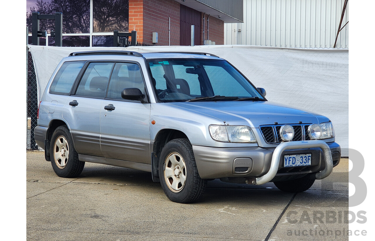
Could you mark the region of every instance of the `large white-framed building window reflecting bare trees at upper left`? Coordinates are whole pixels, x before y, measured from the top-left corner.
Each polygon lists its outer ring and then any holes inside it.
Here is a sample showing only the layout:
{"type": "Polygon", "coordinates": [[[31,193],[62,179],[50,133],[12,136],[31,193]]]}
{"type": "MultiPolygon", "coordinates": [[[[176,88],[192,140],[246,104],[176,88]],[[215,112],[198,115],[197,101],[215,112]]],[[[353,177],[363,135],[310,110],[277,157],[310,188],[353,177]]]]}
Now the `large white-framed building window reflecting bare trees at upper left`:
{"type": "MultiPolygon", "coordinates": [[[[128,32],[129,0],[28,0],[26,24],[31,44],[31,13],[63,13],[63,46],[113,46],[113,31],[128,32]],[[92,12],[90,12],[92,9],[92,12]]],[[[47,31],[46,38],[39,38],[39,45],[53,46],[54,20],[40,19],[40,31],[47,31]]]]}

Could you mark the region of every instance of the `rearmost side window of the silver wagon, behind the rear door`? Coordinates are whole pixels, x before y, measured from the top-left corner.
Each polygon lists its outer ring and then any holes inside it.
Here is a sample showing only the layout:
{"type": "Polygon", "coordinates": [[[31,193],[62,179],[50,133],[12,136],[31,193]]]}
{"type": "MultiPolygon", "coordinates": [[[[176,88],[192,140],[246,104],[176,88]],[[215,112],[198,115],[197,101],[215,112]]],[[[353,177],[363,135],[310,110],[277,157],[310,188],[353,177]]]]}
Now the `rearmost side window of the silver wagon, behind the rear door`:
{"type": "Polygon", "coordinates": [[[49,93],[68,95],[71,92],[74,81],[80,73],[84,63],[84,61],[65,62],[52,81],[49,93]]]}

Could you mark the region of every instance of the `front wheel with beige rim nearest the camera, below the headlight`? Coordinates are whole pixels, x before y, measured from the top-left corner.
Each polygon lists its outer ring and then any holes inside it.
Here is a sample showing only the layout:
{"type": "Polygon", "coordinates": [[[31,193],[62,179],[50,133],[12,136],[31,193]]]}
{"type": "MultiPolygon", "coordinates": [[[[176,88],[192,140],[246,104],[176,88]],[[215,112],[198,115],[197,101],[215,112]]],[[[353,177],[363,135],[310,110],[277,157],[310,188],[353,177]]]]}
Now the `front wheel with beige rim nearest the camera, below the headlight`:
{"type": "Polygon", "coordinates": [[[165,195],[176,203],[198,200],[207,184],[207,180],[199,177],[193,149],[187,139],[174,139],[163,147],[159,159],[159,177],[165,195]]]}

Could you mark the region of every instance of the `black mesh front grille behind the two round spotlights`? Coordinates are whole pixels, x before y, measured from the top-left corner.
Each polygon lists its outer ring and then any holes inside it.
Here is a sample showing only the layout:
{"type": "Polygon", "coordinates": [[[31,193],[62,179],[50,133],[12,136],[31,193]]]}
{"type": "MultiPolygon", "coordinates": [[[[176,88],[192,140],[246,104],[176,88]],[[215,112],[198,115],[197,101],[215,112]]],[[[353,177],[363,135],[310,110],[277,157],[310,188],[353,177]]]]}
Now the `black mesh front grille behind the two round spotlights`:
{"type": "MultiPolygon", "coordinates": [[[[307,130],[310,124],[300,124],[300,125],[293,125],[294,129],[294,137],[292,141],[298,140],[310,140],[307,130]]],[[[269,144],[277,144],[282,142],[280,137],[280,129],[282,125],[278,126],[261,126],[260,130],[264,136],[264,140],[266,140],[269,144]],[[276,136],[276,141],[275,141],[276,136]]]]}

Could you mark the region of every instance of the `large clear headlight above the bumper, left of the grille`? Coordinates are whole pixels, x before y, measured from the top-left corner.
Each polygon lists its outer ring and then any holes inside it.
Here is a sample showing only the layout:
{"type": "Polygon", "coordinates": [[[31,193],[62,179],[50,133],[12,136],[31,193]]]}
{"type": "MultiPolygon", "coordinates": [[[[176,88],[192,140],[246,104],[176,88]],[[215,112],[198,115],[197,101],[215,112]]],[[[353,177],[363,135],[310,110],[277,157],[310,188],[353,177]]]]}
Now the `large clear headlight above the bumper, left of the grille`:
{"type": "Polygon", "coordinates": [[[211,138],[219,142],[256,143],[257,139],[248,126],[208,126],[211,138]]]}

